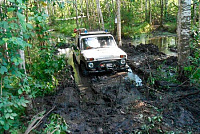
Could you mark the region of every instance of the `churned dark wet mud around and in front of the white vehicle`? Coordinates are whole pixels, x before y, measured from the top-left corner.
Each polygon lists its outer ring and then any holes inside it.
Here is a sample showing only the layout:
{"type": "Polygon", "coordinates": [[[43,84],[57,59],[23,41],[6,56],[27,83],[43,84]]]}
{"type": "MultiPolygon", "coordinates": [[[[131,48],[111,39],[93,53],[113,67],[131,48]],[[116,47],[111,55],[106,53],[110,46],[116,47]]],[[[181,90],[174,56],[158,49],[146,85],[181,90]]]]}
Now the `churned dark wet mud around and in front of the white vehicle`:
{"type": "MultiPolygon", "coordinates": [[[[131,69],[143,80],[142,86],[136,86],[127,72],[80,74],[77,83],[75,65],[59,74],[54,95],[34,100],[36,111],[55,106],[51,113],[60,114],[72,134],[200,133],[200,90],[164,80],[151,85],[149,80],[160,73],[160,65],[163,72],[173,75],[177,57],[166,56],[153,44],[125,44],[122,49],[131,69]]],[[[38,129],[46,123],[44,119],[38,129]]]]}

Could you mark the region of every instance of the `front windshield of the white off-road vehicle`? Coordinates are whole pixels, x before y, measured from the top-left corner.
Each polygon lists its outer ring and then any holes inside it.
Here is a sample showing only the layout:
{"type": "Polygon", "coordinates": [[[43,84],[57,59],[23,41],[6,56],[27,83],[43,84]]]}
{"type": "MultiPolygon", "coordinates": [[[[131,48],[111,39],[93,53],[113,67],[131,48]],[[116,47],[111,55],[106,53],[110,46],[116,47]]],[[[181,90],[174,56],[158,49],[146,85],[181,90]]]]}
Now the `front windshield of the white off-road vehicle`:
{"type": "Polygon", "coordinates": [[[87,37],[81,40],[83,49],[113,47],[115,42],[112,36],[87,37]]]}

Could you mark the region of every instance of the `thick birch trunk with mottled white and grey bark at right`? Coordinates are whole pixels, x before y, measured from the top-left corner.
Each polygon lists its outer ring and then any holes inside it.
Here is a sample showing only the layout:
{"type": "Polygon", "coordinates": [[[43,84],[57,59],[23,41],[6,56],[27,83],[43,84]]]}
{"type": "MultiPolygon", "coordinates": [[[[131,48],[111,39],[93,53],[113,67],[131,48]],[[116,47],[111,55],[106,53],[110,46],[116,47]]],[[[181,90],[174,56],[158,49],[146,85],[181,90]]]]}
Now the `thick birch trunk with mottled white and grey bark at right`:
{"type": "Polygon", "coordinates": [[[191,27],[191,1],[179,0],[179,12],[178,12],[178,73],[179,80],[185,81],[186,74],[184,67],[189,66],[190,55],[190,29],[191,27]]]}

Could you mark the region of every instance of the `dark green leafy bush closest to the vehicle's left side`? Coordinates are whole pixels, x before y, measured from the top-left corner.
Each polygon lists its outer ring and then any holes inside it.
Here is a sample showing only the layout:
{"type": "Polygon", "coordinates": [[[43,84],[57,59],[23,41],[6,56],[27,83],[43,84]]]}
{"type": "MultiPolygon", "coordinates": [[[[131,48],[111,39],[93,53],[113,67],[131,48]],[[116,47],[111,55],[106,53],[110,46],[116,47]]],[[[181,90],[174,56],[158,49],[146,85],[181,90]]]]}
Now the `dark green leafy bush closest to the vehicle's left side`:
{"type": "Polygon", "coordinates": [[[30,66],[31,76],[35,83],[33,87],[37,95],[51,94],[55,92],[58,84],[55,75],[65,66],[64,56],[56,56],[54,49],[39,50],[30,66]]]}

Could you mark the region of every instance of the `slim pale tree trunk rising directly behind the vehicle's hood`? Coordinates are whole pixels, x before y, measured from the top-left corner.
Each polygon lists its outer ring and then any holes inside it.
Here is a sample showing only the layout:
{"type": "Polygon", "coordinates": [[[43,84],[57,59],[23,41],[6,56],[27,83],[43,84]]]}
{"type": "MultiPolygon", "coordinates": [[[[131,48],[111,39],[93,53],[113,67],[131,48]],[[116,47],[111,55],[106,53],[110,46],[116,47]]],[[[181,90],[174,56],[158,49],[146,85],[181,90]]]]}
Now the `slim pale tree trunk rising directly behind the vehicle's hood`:
{"type": "Polygon", "coordinates": [[[121,6],[121,0],[117,0],[117,41],[118,41],[118,45],[122,46],[120,6],[121,6]]]}

